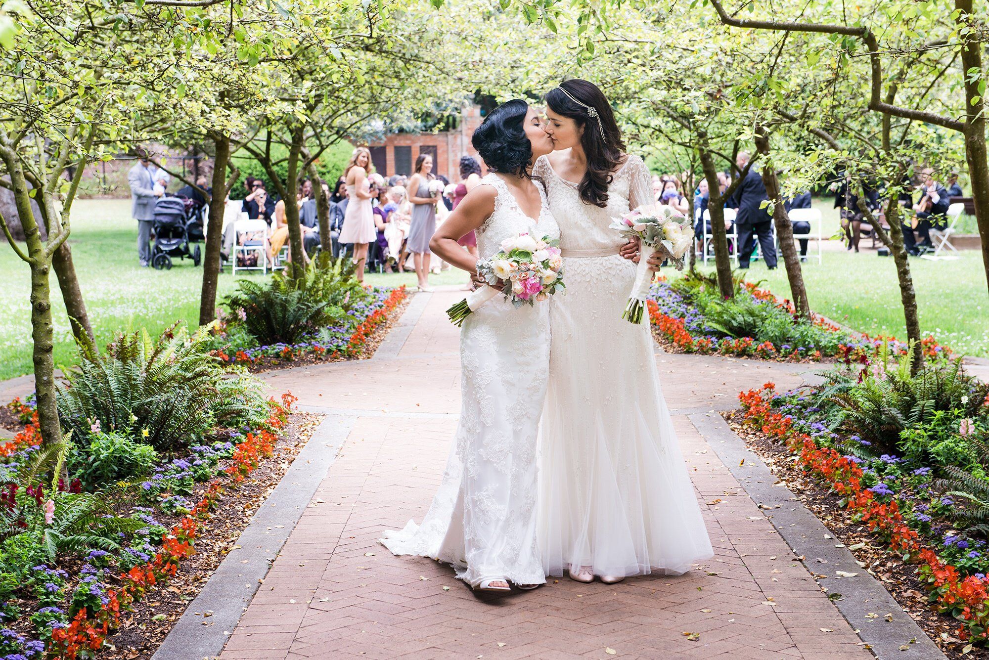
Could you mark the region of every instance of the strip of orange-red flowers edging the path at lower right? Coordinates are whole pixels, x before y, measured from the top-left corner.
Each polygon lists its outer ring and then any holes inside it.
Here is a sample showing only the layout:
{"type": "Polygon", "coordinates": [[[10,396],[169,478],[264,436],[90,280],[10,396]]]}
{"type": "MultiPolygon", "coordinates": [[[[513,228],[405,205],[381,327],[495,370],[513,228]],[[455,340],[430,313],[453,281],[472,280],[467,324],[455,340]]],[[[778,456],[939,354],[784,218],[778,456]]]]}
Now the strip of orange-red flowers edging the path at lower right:
{"type": "Polygon", "coordinates": [[[986,580],[974,575],[962,577],[958,569],[942,561],[923,544],[918,533],[900,513],[895,500],[882,503],[872,491],[861,485],[862,470],[854,461],[834,449],[820,447],[814,439],[793,429],[790,419],[770,405],[775,385],[767,382],[762,389],[741,392],[739,400],[748,424],[759,427],[764,435],[781,441],[799,463],[824,479],[846,500],[846,508],[858,514],[874,535],[888,543],[905,561],[919,564],[922,586],[940,612],[961,621],[957,634],[973,642],[989,641],[989,592],[986,580]]]}

